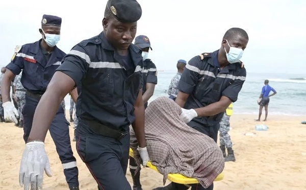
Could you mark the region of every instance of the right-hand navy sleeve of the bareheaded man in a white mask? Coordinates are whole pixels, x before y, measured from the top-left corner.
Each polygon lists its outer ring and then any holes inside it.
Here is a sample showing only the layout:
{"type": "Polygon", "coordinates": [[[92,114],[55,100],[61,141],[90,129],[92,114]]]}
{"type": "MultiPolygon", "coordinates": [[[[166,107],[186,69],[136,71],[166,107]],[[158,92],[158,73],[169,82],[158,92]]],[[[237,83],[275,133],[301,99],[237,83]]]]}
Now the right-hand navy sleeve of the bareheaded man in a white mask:
{"type": "Polygon", "coordinates": [[[230,86],[225,88],[222,92],[222,96],[229,98],[232,102],[236,102],[238,99],[238,93],[240,92],[242,85],[246,78],[246,70],[243,67],[237,76],[233,76],[234,81],[230,86]]]}

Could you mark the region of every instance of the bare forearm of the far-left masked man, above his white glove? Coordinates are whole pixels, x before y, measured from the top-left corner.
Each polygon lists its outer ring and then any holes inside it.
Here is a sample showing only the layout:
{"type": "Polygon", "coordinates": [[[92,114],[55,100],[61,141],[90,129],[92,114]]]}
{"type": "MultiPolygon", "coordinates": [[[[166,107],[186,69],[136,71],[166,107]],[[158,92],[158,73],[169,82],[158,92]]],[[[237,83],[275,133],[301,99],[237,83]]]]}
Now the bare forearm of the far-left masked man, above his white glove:
{"type": "Polygon", "coordinates": [[[14,79],[15,74],[11,72],[10,69],[7,69],[3,79],[1,81],[1,95],[3,103],[9,102],[10,99],[10,91],[11,91],[11,82],[14,79]]]}

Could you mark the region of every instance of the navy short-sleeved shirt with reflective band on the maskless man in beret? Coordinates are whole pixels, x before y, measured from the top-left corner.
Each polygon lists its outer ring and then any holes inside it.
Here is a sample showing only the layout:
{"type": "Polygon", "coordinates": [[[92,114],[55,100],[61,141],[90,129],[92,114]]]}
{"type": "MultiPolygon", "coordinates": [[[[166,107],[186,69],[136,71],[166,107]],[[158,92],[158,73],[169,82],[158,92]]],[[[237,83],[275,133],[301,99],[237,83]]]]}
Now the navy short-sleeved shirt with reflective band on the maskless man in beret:
{"type": "Polygon", "coordinates": [[[143,60],[134,44],[129,46],[126,58],[127,61],[123,60],[114,50],[104,32],[75,45],[64,57],[57,70],[78,84],[76,110],[80,122],[93,120],[116,130],[129,130],[135,121],[134,105],[143,87],[143,60]]]}

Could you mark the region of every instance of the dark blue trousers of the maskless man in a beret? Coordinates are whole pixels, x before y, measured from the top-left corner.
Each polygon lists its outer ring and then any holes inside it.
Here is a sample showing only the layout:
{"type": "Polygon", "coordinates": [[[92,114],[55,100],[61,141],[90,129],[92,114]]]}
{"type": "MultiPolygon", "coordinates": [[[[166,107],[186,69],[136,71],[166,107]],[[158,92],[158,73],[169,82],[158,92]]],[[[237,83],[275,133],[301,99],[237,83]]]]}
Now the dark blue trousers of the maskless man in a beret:
{"type": "Polygon", "coordinates": [[[101,190],[131,190],[125,174],[130,134],[120,141],[107,136],[82,135],[77,131],[77,151],[101,190]]]}

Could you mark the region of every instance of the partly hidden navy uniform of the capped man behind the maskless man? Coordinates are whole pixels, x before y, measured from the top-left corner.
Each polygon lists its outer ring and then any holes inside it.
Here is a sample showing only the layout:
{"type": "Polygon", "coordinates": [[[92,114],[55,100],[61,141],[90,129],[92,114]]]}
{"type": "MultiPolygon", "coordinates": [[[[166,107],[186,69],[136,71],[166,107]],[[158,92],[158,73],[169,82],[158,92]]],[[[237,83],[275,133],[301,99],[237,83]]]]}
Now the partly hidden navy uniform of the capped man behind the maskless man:
{"type": "MultiPolygon", "coordinates": [[[[155,64],[150,59],[145,59],[143,61],[143,88],[142,94],[146,91],[146,83],[157,84],[157,69],[155,64]]],[[[146,108],[148,103],[145,103],[144,107],[146,108]]]]}

